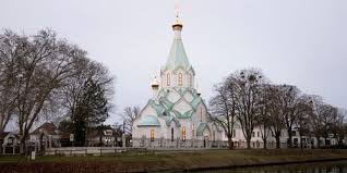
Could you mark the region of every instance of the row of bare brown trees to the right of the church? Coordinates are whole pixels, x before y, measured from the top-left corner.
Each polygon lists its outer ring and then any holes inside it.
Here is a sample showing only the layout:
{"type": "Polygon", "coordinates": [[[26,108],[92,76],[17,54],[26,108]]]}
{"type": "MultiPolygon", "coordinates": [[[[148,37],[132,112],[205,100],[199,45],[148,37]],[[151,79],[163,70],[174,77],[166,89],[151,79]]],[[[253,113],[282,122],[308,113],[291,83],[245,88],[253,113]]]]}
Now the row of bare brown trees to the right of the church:
{"type": "Polygon", "coordinates": [[[326,141],[330,135],[342,146],[347,134],[346,110],[324,102],[320,96],[303,94],[297,86],[272,84],[256,69],[236,71],[216,84],[210,111],[212,121],[225,131],[230,149],[236,124],[241,127],[248,148],[255,127],[261,131],[264,148],[271,137],[280,148],[282,131],[288,134],[288,147],[294,147],[295,128],[301,147],[303,136],[315,137],[320,147],[320,138],[326,141]]]}

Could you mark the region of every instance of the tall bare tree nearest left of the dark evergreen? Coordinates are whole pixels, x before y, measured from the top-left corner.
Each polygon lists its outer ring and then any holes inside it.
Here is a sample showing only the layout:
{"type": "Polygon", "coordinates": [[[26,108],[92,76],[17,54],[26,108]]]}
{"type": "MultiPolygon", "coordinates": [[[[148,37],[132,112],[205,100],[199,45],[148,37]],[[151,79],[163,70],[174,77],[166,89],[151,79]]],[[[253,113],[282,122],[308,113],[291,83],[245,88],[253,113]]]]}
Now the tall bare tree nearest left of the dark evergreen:
{"type": "Polygon", "coordinates": [[[51,106],[56,103],[55,92],[64,79],[73,75],[73,59],[85,55],[77,47],[57,40],[51,30],[41,30],[31,37],[24,51],[27,54],[16,59],[20,71],[17,116],[22,152],[34,122],[51,112],[51,106]]]}

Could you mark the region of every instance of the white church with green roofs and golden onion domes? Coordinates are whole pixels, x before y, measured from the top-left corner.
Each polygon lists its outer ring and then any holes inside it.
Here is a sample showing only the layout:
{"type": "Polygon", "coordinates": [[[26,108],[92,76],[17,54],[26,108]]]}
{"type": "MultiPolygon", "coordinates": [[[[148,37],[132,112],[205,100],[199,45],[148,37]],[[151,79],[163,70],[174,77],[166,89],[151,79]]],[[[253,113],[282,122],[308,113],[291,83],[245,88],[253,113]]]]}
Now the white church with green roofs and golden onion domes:
{"type": "Polygon", "coordinates": [[[210,120],[195,71],[187,57],[183,25],[178,15],[172,25],[174,42],[160,78],[151,84],[153,98],[133,123],[133,147],[208,148],[222,147],[224,131],[210,120]]]}

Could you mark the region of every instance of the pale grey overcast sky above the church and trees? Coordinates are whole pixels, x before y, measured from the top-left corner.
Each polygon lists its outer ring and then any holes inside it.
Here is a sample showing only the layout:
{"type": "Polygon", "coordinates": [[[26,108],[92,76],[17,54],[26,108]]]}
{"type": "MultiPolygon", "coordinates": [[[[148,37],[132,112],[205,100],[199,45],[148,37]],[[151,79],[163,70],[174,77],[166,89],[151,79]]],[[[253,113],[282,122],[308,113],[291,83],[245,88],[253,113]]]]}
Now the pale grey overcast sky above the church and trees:
{"type": "MultiPolygon", "coordinates": [[[[183,42],[206,101],[229,73],[260,67],[273,83],[347,108],[347,0],[181,0],[180,7],[183,42]]],[[[49,27],[104,63],[117,77],[118,111],[152,96],[172,21],[174,0],[0,0],[0,28],[49,27]]]]}

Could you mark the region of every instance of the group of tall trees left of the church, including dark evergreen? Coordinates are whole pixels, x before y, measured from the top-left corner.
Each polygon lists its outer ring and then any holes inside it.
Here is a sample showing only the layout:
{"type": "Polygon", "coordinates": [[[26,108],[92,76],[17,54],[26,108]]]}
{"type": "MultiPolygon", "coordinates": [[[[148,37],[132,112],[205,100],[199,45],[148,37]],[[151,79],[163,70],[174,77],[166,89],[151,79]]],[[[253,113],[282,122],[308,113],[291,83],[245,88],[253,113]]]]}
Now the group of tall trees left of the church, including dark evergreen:
{"type": "Polygon", "coordinates": [[[104,122],[112,108],[112,85],[103,64],[51,29],[0,34],[0,136],[15,121],[22,153],[37,122],[64,118],[74,134],[104,122]]]}

